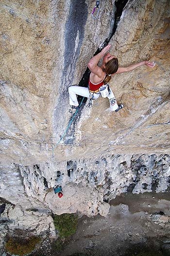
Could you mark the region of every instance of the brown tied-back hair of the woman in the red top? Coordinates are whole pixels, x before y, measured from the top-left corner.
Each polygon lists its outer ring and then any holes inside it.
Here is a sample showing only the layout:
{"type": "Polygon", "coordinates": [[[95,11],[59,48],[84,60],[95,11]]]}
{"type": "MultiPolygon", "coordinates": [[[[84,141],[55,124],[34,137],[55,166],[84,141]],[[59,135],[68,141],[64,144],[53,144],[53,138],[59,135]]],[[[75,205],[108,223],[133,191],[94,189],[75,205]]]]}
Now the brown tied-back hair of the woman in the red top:
{"type": "Polygon", "coordinates": [[[113,58],[106,63],[105,68],[103,69],[103,71],[105,71],[106,73],[103,81],[104,84],[107,84],[110,81],[110,79],[112,78],[111,74],[114,74],[118,71],[118,66],[119,63],[117,58],[113,58]]]}

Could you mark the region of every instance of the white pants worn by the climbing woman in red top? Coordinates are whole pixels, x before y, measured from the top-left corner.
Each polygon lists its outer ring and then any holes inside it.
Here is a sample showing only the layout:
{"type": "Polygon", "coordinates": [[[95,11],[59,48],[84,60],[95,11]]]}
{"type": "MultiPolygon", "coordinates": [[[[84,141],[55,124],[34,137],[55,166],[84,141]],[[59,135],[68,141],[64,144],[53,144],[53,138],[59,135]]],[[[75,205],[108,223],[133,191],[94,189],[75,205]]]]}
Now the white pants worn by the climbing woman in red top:
{"type": "MultiPolygon", "coordinates": [[[[90,96],[93,95],[93,99],[98,99],[101,96],[100,92],[93,94],[92,92],[89,92],[89,89],[87,87],[81,87],[78,85],[69,86],[68,93],[69,93],[69,104],[72,106],[79,105],[76,94],[86,98],[90,98],[90,96]]],[[[115,111],[116,109],[118,109],[116,98],[111,89],[110,89],[110,94],[107,98],[109,99],[111,110],[115,111]]]]}

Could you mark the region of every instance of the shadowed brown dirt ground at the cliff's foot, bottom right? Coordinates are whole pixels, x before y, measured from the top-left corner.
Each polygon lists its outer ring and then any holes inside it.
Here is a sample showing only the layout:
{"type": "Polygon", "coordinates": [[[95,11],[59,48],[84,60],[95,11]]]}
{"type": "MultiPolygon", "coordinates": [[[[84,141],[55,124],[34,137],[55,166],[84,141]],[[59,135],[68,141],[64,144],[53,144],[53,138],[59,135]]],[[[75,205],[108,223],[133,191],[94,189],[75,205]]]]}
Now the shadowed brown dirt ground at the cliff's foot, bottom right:
{"type": "Polygon", "coordinates": [[[170,223],[161,226],[150,218],[170,216],[169,192],[125,193],[110,205],[106,217],[81,218],[76,234],[55,256],[170,256],[170,223]]]}

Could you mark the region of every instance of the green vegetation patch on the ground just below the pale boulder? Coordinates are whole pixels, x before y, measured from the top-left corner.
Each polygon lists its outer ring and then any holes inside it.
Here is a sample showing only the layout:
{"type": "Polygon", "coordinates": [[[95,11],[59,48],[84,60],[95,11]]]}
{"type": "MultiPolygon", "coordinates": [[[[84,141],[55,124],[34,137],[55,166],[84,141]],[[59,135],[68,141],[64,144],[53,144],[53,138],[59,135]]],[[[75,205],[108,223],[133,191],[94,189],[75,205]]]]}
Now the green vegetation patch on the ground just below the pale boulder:
{"type": "Polygon", "coordinates": [[[68,238],[76,233],[78,216],[75,214],[54,215],[54,226],[59,231],[61,238],[68,238]]]}

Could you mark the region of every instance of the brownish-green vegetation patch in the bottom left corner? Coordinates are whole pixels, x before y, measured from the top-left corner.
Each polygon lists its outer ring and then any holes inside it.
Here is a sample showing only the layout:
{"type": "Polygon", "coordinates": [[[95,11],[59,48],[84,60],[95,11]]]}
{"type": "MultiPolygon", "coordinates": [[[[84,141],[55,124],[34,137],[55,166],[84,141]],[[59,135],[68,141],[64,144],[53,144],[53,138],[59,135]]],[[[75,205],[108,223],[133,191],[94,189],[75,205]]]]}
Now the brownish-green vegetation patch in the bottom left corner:
{"type": "Polygon", "coordinates": [[[24,256],[31,253],[40,240],[41,239],[36,236],[32,236],[30,238],[11,237],[6,242],[5,248],[10,254],[24,256]]]}

